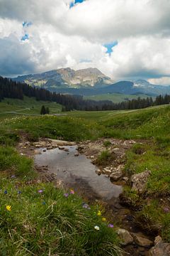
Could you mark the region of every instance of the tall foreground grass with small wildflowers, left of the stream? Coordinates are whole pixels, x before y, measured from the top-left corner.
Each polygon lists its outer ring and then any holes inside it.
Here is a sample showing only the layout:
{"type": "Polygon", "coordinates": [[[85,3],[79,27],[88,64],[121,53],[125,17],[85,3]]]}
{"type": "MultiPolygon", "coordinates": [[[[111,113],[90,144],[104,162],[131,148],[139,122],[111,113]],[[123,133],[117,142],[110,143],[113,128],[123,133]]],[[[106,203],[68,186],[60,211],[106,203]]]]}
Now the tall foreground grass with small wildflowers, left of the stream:
{"type": "Polygon", "coordinates": [[[83,208],[77,195],[52,183],[25,185],[1,177],[1,255],[121,255],[113,228],[98,206],[83,208]],[[99,230],[94,227],[98,225],[99,230]]]}

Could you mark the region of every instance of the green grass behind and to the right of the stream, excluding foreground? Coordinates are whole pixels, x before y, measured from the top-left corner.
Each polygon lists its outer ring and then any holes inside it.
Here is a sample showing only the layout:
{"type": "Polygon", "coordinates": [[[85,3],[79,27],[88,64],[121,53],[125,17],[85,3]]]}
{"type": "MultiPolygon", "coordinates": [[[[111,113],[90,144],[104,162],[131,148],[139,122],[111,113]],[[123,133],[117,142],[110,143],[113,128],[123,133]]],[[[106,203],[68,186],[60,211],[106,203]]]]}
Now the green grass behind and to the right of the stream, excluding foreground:
{"type": "MultiPolygon", "coordinates": [[[[169,121],[169,105],[149,107],[145,110],[76,111],[69,112],[64,117],[14,117],[1,121],[0,144],[15,146],[22,132],[32,140],[50,137],[79,142],[115,137],[142,141],[142,145],[137,144],[127,152],[125,175],[130,177],[145,171],[146,168],[152,171],[152,174],[143,195],[131,191],[129,186],[125,189],[124,196],[131,206],[137,207],[137,215],[142,224],[147,224],[147,228],[159,227],[159,233],[170,242],[170,217],[169,212],[164,212],[164,208],[170,209],[167,199],[170,191],[169,121]]],[[[109,157],[105,152],[98,160],[103,164],[109,157]]]]}

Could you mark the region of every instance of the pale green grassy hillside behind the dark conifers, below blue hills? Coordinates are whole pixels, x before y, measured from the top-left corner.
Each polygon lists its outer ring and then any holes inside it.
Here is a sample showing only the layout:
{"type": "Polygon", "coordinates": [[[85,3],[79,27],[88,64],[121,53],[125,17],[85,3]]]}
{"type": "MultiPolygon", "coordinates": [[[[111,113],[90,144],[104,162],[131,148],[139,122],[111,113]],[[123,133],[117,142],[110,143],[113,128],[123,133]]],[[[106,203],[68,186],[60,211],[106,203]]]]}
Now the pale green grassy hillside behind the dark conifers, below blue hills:
{"type": "Polygon", "coordinates": [[[137,99],[137,97],[141,97],[142,99],[147,98],[147,95],[124,95],[121,93],[108,93],[103,95],[92,95],[85,96],[84,100],[111,100],[114,103],[123,102],[125,100],[133,100],[137,99]]]}

